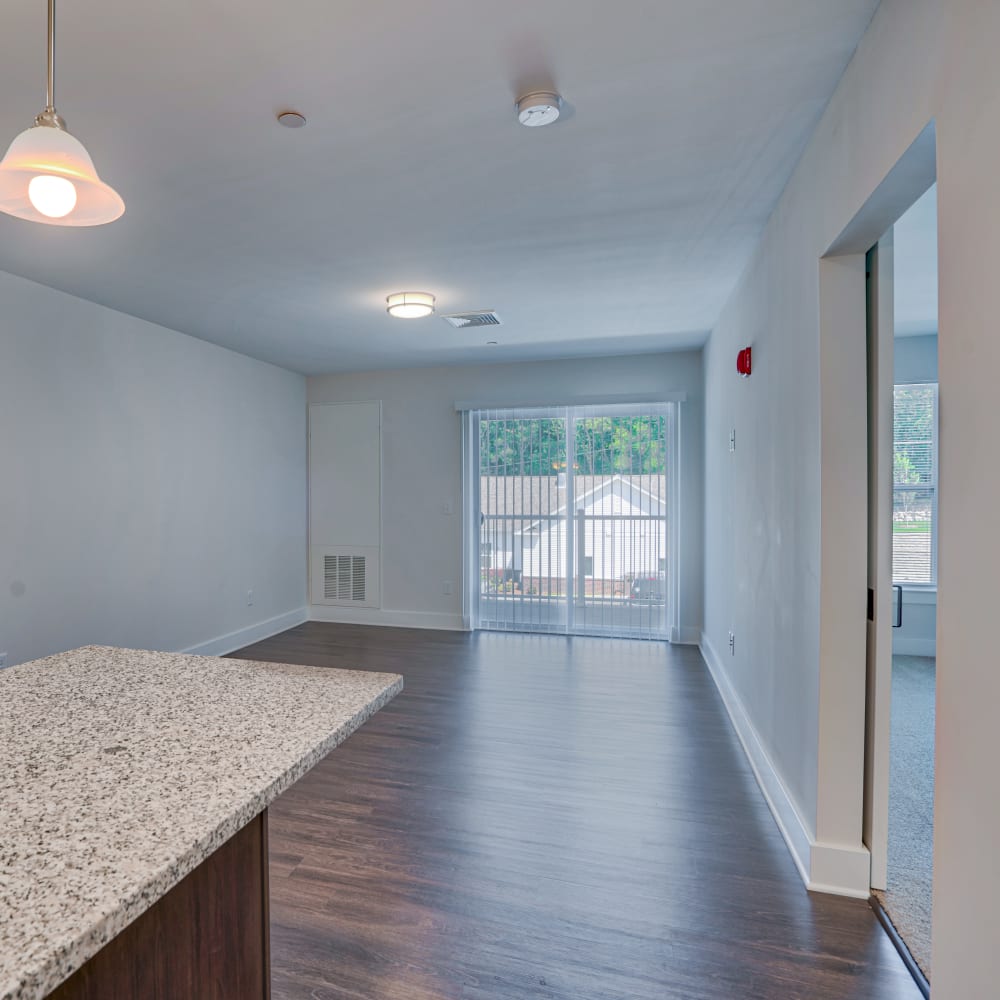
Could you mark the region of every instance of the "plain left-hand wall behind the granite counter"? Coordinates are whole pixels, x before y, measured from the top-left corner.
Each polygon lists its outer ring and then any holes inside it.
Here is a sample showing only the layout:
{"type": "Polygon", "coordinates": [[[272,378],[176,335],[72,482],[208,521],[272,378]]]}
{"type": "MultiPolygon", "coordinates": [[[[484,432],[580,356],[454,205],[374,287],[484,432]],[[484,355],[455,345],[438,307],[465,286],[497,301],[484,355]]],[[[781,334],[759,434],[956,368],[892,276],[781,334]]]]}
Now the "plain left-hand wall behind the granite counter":
{"type": "Polygon", "coordinates": [[[305,446],[302,376],[0,273],[0,650],[301,620],[305,446]]]}

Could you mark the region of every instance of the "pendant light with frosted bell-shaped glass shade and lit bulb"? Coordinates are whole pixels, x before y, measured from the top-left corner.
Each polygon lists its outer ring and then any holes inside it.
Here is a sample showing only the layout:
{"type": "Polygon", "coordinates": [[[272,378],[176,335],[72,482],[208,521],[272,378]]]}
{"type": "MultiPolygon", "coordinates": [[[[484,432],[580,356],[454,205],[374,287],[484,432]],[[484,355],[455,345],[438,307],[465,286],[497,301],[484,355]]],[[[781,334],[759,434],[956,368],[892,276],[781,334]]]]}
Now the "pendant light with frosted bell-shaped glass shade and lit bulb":
{"type": "Polygon", "coordinates": [[[100,226],[119,218],[125,202],[97,176],[83,143],[56,112],[55,7],[49,0],[45,110],[0,160],[0,212],[49,226],[100,226]]]}

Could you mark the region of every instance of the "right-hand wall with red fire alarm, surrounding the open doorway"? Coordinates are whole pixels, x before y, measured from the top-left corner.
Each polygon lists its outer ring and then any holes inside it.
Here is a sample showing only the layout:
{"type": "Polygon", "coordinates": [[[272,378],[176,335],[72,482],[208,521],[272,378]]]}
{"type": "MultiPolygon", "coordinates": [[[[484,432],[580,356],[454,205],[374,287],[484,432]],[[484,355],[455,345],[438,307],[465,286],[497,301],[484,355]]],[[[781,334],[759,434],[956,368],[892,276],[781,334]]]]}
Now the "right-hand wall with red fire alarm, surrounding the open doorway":
{"type": "MultiPolygon", "coordinates": [[[[864,685],[862,675],[860,701],[820,703],[822,670],[849,677],[854,694],[859,670],[855,659],[821,669],[822,526],[839,516],[838,480],[823,463],[829,457],[853,504],[864,442],[849,466],[855,422],[845,421],[838,441],[837,399],[824,402],[821,392],[842,374],[863,378],[863,365],[837,373],[835,346],[821,350],[819,260],[935,120],[942,388],[933,967],[935,995],[948,998],[993,995],[1000,940],[992,608],[1000,536],[982,530],[1000,467],[969,447],[996,423],[1000,365],[992,333],[1000,308],[997,38],[1000,4],[883,0],[705,354],[706,637],[722,651],[735,623],[737,655],[719,657],[724,679],[812,832],[821,836],[825,802],[852,796],[847,850],[860,843],[864,685]],[[757,372],[741,384],[732,367],[750,342],[757,372]],[[730,424],[746,445],[735,462],[730,424]]],[[[845,599],[862,608],[852,642],[864,628],[863,583],[854,589],[857,598],[852,589],[845,599]]]]}

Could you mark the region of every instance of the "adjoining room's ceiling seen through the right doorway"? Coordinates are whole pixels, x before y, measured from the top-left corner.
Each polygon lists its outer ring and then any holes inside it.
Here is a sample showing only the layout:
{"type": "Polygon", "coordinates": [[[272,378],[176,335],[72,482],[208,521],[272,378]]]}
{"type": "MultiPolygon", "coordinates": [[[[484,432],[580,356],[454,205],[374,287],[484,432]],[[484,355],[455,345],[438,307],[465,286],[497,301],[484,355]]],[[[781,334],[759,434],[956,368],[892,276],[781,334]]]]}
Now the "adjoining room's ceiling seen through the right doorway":
{"type": "Polygon", "coordinates": [[[937,185],[893,228],[893,323],[897,337],[937,333],[937,185]]]}

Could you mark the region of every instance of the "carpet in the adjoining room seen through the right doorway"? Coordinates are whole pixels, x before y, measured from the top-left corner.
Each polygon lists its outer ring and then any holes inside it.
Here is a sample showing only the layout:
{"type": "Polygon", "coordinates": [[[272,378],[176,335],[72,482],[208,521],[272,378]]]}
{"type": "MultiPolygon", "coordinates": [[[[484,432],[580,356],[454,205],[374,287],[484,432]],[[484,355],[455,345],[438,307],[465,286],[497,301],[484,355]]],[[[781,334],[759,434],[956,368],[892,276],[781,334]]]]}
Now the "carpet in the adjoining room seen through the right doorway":
{"type": "Polygon", "coordinates": [[[889,884],[875,896],[931,978],[935,661],[892,658],[889,884]]]}

